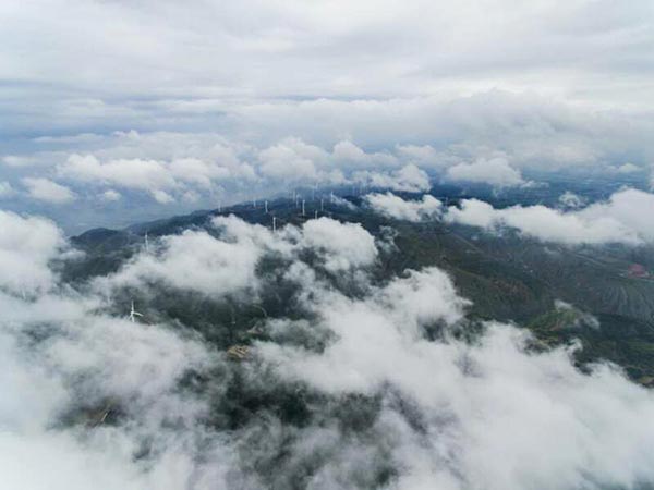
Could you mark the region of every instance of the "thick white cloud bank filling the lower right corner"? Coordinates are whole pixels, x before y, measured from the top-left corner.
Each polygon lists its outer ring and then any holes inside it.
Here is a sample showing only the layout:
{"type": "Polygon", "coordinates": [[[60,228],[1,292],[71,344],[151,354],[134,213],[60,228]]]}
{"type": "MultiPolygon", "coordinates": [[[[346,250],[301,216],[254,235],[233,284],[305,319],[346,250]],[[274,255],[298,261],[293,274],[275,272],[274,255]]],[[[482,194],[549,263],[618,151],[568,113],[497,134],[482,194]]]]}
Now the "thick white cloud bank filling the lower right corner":
{"type": "Polygon", "coordinates": [[[621,375],[604,366],[583,375],[562,348],[529,353],[529,334],[509,326],[488,324],[472,344],[426,341],[422,327],[456,322],[465,306],[443,272],[412,272],[360,301],[312,297],[307,306],[334,341],[320,352],[262,343],[259,353],[281,376],[327,394],[384,396],[374,427],[392,441],[397,488],[628,487],[654,478],[654,431],[639,421],[654,415],[654,401],[621,375]]]}

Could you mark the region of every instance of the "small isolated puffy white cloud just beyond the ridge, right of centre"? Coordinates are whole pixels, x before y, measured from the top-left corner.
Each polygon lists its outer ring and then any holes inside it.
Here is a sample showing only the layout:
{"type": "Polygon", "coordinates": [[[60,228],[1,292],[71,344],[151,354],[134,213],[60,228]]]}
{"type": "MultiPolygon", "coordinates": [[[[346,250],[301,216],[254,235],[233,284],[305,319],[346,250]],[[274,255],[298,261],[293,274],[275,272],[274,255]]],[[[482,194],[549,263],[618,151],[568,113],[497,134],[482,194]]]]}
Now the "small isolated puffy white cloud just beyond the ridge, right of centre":
{"type": "Polygon", "coordinates": [[[481,158],[473,163],[459,163],[447,169],[446,177],[498,187],[512,187],[525,183],[520,171],[513,169],[507,159],[501,157],[481,158]]]}

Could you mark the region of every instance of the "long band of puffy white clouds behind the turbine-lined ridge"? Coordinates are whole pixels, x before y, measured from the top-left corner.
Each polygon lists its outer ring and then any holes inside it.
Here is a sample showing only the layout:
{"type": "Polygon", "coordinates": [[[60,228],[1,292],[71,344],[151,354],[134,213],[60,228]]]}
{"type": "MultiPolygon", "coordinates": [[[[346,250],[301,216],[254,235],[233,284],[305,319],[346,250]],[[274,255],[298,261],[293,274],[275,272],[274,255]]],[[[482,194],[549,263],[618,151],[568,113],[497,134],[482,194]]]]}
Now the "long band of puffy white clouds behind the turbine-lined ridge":
{"type": "MultiPolygon", "coordinates": [[[[86,155],[73,154],[56,166],[56,174],[78,186],[116,186],[147,192],[159,204],[180,198],[213,203],[217,194],[233,200],[280,192],[280,185],[344,185],[365,182],[398,191],[428,187],[426,173],[415,164],[400,167],[389,152],[367,154],[349,140],[334,151],[286,137],[265,149],[227,144],[216,135],[195,135],[193,144],[175,135],[118,134],[116,147],[100,147],[86,155]],[[168,138],[171,138],[171,145],[168,138]],[[218,142],[218,143],[217,143],[218,142]],[[175,146],[179,145],[180,147],[175,146]],[[164,150],[162,150],[164,148],[164,150]],[[143,155],[143,158],[134,158],[143,155]],[[158,158],[147,158],[156,155],[158,158]],[[132,156],[132,157],[130,157],[132,156]],[[252,161],[249,163],[247,161],[252,161]],[[383,168],[384,171],[360,169],[383,168]],[[192,197],[192,198],[191,198],[192,197]]],[[[93,139],[93,145],[102,143],[93,139]]]]}

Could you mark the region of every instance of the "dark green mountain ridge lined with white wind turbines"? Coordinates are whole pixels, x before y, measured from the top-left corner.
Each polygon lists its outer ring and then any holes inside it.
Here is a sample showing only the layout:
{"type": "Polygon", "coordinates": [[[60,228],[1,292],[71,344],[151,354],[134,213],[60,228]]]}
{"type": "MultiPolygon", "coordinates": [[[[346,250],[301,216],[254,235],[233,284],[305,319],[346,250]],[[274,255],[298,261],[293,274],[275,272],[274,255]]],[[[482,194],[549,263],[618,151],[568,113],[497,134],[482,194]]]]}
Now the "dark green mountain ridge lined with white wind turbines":
{"type": "MultiPolygon", "coordinates": [[[[185,230],[210,230],[210,219],[217,216],[234,215],[249,223],[271,228],[272,216],[277,226],[301,225],[318,211],[319,216],[361,223],[377,240],[392,236],[393,246],[372,270],[378,283],[405,269],[436,266],[472,302],[471,322],[514,322],[533,331],[544,345],[580,341],[583,348],[576,354],[580,365],[608,359],[621,366],[632,379],[654,384],[654,279],[646,272],[654,269],[652,247],[564,246],[544,244],[510,231],[491,234],[438,221],[412,223],[380,217],[362,207],[358,196],[347,199],[349,206],[324,203],[323,211],[319,201],[307,203],[306,216],[301,216],[292,200],[278,199],[268,203],[268,213],[262,204],[253,207],[249,203],[123,230],[89,230],[71,240],[85,255],[66,262],[62,273],[70,284],[84,284],[118,271],[143,249],[146,233],[150,242],[156,242],[185,230]],[[564,304],[570,306],[562,308],[564,304]]],[[[144,303],[157,316],[194,326],[227,350],[235,342],[247,342],[244,332],[263,318],[262,310],[270,316],[292,314],[289,310],[292,305],[284,303],[290,297],[288,291],[268,291],[263,293],[261,303],[249,305],[242,298],[209,301],[158,290],[144,303]],[[234,323],[242,327],[234,331],[234,323]]]]}

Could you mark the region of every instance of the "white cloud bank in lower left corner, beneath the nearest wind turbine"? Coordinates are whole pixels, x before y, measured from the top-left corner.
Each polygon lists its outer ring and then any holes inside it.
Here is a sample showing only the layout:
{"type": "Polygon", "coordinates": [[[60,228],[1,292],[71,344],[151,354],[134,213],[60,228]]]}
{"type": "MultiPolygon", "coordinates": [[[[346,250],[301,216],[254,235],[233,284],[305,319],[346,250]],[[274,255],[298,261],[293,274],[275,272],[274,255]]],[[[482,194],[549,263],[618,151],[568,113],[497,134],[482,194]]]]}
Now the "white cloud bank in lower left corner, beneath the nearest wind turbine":
{"type": "Polygon", "coordinates": [[[165,326],[143,328],[98,316],[96,305],[62,296],[26,303],[0,294],[0,305],[24,318],[19,324],[43,319],[51,327],[47,342],[26,346],[12,327],[15,319],[0,321],[0,380],[5,387],[0,468],[7,485],[29,490],[175,489],[192,478],[222,481],[230,455],[219,454],[221,446],[202,444],[196,431],[206,404],[178,391],[185,372],[211,363],[204,345],[165,326]],[[111,417],[119,412],[126,426],[99,422],[104,413],[111,417]],[[62,421],[68,413],[76,420],[62,421]],[[134,457],[144,441],[153,456],[148,464],[134,457]],[[195,463],[201,444],[211,454],[214,468],[195,463]],[[24,471],[26,465],[33,470],[24,471]]]}

